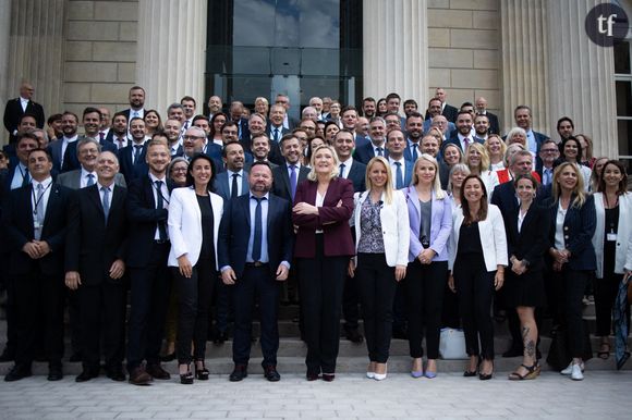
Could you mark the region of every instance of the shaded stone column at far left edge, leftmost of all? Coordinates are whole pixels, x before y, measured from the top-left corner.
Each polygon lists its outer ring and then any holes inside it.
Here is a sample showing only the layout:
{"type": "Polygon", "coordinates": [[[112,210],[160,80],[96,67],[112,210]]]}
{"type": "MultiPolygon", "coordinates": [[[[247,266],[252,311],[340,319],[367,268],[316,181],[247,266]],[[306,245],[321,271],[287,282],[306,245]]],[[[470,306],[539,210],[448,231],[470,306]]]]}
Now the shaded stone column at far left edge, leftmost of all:
{"type": "MultiPolygon", "coordinates": [[[[0,28],[9,28],[10,34],[7,67],[0,67],[5,72],[3,98],[17,97],[20,84],[28,81],[35,88],[34,100],[42,104],[46,115],[62,111],[65,1],[2,0],[1,4],[8,12],[0,17],[0,28]]],[[[2,46],[0,41],[0,51],[2,46]]]]}

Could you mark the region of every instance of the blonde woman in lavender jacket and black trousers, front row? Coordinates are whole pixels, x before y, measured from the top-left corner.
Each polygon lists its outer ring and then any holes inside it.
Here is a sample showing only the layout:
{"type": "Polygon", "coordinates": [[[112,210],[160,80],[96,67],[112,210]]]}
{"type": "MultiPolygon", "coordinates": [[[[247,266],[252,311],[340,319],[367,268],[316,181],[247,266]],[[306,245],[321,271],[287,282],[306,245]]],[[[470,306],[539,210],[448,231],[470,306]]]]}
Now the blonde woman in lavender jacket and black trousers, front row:
{"type": "Polygon", "coordinates": [[[441,189],[435,158],[423,153],[413,168],[413,185],[403,189],[411,228],[409,268],[404,280],[409,318],[411,375],[437,375],[441,304],[448,277],[448,238],[452,230],[452,205],[441,189]],[[422,339],[426,325],[427,365],[423,369],[422,339]]]}

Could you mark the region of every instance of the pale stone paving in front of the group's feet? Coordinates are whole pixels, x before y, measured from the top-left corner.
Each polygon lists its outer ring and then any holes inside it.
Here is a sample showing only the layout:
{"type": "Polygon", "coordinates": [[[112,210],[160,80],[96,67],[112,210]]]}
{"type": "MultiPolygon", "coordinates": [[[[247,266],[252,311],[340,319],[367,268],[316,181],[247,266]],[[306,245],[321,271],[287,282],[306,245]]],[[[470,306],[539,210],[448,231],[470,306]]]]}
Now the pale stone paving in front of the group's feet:
{"type": "Polygon", "coordinates": [[[193,385],[181,385],[173,378],[136,387],[102,376],[77,384],[74,375],[56,383],[36,375],[0,382],[0,418],[632,418],[632,371],[586,371],[583,382],[550,371],[522,383],[506,376],[499,372],[482,382],[460,373],[440,373],[434,380],[393,373],[376,382],[341,373],[326,383],[283,374],[281,382],[268,383],[253,369],[241,383],[231,383],[223,374],[193,385]]]}

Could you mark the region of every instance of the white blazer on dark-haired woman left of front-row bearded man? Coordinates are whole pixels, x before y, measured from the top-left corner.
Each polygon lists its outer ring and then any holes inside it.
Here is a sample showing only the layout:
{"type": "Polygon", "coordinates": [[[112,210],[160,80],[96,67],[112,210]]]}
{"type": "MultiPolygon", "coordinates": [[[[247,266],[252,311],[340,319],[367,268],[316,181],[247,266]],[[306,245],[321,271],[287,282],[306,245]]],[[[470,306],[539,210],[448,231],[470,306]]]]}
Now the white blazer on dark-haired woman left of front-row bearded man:
{"type": "MultiPolygon", "coordinates": [[[[223,199],[214,193],[208,193],[212,208],[212,238],[215,246],[215,261],[217,267],[217,238],[219,224],[223,213],[223,199]]],[[[197,203],[197,196],[193,187],[175,188],[169,199],[169,267],[178,267],[178,257],[186,254],[191,265],[197,263],[202,249],[202,211],[197,203]]]]}

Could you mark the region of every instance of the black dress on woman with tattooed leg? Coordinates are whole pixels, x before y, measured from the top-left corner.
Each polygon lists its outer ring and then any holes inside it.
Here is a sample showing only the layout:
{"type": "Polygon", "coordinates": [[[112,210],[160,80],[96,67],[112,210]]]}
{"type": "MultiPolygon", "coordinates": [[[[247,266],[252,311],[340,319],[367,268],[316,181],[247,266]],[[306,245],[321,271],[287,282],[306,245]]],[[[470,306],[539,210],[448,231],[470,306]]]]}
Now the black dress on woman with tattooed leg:
{"type": "Polygon", "coordinates": [[[543,307],[546,305],[543,261],[547,247],[546,211],[532,205],[527,210],[520,232],[518,232],[518,214],[513,211],[506,220],[508,249],[519,260],[526,259],[527,270],[518,275],[511,271],[511,262],[506,273],[502,287],[503,298],[508,307],[543,307]]]}

